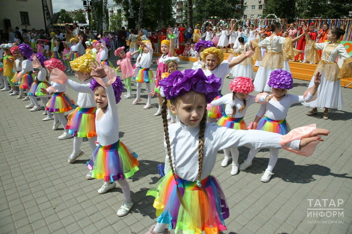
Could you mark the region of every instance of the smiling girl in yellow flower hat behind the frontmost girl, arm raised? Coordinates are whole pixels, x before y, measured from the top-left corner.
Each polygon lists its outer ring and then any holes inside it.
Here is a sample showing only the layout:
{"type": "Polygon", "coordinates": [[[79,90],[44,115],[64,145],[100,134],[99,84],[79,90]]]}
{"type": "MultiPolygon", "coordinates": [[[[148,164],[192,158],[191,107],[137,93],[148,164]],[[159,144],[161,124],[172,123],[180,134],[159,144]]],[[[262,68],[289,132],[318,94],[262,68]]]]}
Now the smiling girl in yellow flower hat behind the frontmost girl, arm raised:
{"type": "MultiPolygon", "coordinates": [[[[206,62],[202,66],[203,72],[208,76],[211,74],[214,74],[216,77],[221,78],[221,86],[219,87],[219,94],[215,98],[215,100],[222,97],[221,89],[222,89],[222,86],[224,85],[224,78],[228,73],[228,69],[244,61],[246,58],[250,58],[253,52],[254,52],[253,48],[252,48],[252,51],[248,51],[248,52],[245,49],[244,53],[238,56],[238,58],[230,62],[228,61],[222,62],[224,61],[224,53],[222,53],[221,49],[210,47],[203,51],[202,59],[205,60],[206,62]]],[[[215,119],[220,118],[222,115],[224,115],[224,113],[225,113],[224,105],[211,108],[207,114],[208,122],[215,121],[215,119]]]]}

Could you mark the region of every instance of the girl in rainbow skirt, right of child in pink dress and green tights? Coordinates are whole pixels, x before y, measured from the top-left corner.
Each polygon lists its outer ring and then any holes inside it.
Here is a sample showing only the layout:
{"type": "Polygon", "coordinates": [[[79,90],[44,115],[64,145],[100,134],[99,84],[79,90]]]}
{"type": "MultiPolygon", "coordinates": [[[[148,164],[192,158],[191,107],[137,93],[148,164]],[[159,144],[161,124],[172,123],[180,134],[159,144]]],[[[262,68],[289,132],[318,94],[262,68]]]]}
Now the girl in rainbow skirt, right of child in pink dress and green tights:
{"type": "MultiPolygon", "coordinates": [[[[133,79],[137,81],[137,97],[136,100],[132,102],[132,105],[136,105],[138,102],[142,101],[142,98],[140,98],[142,83],[145,83],[147,86],[146,90],[150,91],[150,82],[153,79],[153,72],[149,69],[153,56],[153,48],[149,41],[138,41],[137,44],[140,45],[141,50],[137,58],[136,68],[134,68],[133,79]]],[[[149,109],[151,106],[151,96],[148,96],[148,102],[143,109],[149,109]]]]}

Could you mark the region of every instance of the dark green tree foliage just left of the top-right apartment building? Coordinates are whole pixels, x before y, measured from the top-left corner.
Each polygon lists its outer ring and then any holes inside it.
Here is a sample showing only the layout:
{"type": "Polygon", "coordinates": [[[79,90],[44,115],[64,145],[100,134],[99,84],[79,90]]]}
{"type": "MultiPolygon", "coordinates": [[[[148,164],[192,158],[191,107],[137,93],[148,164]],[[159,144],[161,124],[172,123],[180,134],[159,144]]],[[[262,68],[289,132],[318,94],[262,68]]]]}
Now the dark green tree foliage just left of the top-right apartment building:
{"type": "Polygon", "coordinates": [[[218,19],[239,19],[242,12],[238,0],[195,0],[193,5],[196,6],[193,9],[194,25],[200,24],[203,19],[210,19],[211,16],[217,16],[218,19]]]}

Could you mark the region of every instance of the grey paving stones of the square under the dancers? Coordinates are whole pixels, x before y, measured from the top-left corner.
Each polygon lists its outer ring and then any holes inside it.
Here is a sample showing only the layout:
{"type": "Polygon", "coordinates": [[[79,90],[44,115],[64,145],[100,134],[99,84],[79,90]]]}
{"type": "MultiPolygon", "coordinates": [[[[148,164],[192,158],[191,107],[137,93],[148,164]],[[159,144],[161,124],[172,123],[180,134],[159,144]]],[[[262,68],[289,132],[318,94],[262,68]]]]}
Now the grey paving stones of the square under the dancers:
{"type": "MultiPolygon", "coordinates": [[[[116,64],[116,59],[111,60],[116,64]]],[[[181,61],[179,69],[191,66],[190,62],[181,61]]],[[[151,69],[156,71],[156,62],[151,69]]],[[[68,76],[78,81],[73,74],[68,76]]],[[[225,79],[223,94],[230,93],[230,81],[225,79]]],[[[294,84],[289,93],[303,94],[308,81],[295,79],[294,84]]],[[[100,195],[97,190],[103,181],[85,178],[91,154],[87,139],[82,145],[84,156],[69,164],[67,157],[72,152],[73,139],[57,139],[63,127],[53,131],[53,121],[42,121],[43,111],[30,112],[25,108],[29,101],[0,93],[2,234],[147,232],[156,217],[153,197],[145,194],[160,178],[157,164],[164,162],[165,152],[162,119],[153,115],[157,99],[152,99],[153,108],[144,110],[148,93],[144,88],[141,103],[132,105],[133,99],[122,99],[118,104],[120,139],[134,149],[140,163],[140,170],[127,179],[134,206],[122,218],[116,215],[124,198],[121,189],[117,187],[100,195]]],[[[132,89],[135,94],[134,81],[132,89]]],[[[230,207],[230,218],[225,220],[228,230],[222,233],[352,232],[351,91],[342,88],[343,111],[332,110],[329,120],[322,119],[321,110],[318,115],[307,116],[309,109],[301,104],[290,108],[287,120],[291,128],[316,123],[331,134],[308,158],[281,150],[275,174],[268,183],[260,181],[268,165],[268,150],[258,153],[253,166],[235,176],[230,174],[231,165],[220,166],[224,154],[218,152],[213,175],[220,181],[230,207]]],[[[67,93],[77,100],[78,93],[70,88],[67,93]]],[[[258,109],[259,105],[248,109],[247,123],[254,119],[258,109]]],[[[249,148],[240,147],[239,151],[242,163],[249,148]]]]}

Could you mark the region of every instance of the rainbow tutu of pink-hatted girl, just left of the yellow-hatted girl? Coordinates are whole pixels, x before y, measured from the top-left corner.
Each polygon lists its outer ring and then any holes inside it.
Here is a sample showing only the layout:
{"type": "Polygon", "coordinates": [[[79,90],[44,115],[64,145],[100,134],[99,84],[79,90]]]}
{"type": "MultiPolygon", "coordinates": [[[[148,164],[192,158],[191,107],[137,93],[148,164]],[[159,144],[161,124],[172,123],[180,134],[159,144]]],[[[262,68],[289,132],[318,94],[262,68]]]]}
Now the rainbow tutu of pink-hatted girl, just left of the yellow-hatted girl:
{"type": "Polygon", "coordinates": [[[46,110],[54,113],[63,113],[76,108],[75,101],[64,92],[54,93],[48,103],[46,110]]]}

